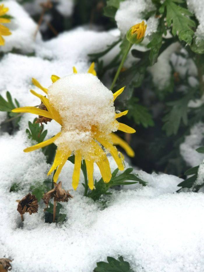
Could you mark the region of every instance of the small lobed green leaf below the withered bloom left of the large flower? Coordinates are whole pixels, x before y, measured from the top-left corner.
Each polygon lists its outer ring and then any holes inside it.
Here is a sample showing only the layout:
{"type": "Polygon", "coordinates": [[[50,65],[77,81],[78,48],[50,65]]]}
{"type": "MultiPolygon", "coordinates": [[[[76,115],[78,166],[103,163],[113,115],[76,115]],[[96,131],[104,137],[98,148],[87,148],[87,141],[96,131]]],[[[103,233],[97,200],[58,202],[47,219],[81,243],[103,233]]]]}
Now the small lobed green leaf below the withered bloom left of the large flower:
{"type": "Polygon", "coordinates": [[[38,143],[41,143],[45,136],[47,135],[48,131],[44,129],[44,126],[40,125],[39,123],[36,123],[37,118],[34,119],[33,123],[30,121],[28,122],[29,129],[26,129],[26,133],[28,134],[29,139],[33,139],[38,143]]]}

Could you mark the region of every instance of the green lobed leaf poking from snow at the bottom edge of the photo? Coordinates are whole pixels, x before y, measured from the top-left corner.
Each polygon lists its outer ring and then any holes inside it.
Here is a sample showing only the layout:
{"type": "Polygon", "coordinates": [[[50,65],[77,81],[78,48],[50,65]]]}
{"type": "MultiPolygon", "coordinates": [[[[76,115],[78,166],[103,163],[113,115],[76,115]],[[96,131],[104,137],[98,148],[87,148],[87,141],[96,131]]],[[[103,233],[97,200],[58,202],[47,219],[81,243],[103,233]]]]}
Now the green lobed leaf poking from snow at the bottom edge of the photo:
{"type": "Polygon", "coordinates": [[[97,267],[94,269],[94,272],[134,272],[129,262],[125,262],[122,256],[120,256],[118,260],[113,257],[107,257],[107,261],[108,263],[97,262],[97,267]]]}

